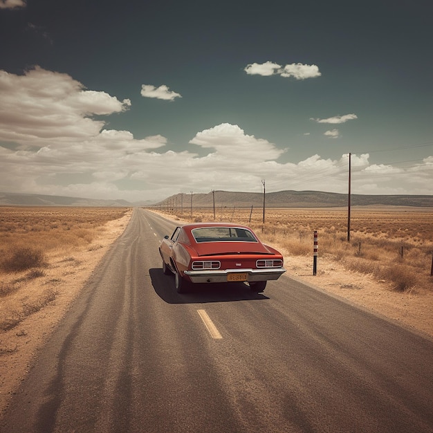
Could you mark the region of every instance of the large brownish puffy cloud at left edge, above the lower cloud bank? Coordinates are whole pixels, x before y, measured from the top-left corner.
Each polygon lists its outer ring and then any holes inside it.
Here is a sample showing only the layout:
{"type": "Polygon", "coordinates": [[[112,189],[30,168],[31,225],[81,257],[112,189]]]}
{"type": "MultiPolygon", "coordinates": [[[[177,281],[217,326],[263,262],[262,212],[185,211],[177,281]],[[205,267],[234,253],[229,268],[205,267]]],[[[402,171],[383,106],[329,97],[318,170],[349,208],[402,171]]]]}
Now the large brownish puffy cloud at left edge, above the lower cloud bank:
{"type": "Polygon", "coordinates": [[[0,140],[46,145],[97,136],[104,122],[94,114],[129,108],[104,92],[88,91],[67,74],[39,66],[15,75],[0,71],[0,140]]]}

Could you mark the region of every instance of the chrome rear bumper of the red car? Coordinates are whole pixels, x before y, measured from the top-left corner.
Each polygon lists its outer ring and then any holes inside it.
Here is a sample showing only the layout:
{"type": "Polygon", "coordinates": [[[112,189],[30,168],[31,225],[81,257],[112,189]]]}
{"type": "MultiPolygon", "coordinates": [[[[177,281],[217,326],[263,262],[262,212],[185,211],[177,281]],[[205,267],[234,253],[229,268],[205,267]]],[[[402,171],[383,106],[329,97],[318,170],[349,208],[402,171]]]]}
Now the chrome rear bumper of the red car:
{"type": "Polygon", "coordinates": [[[284,268],[266,269],[217,269],[217,270],[185,270],[184,274],[190,277],[193,283],[227,283],[232,281],[258,282],[270,279],[279,279],[286,272],[284,268]],[[246,279],[237,279],[243,277],[246,279]],[[229,279],[229,275],[230,278],[229,279]]]}

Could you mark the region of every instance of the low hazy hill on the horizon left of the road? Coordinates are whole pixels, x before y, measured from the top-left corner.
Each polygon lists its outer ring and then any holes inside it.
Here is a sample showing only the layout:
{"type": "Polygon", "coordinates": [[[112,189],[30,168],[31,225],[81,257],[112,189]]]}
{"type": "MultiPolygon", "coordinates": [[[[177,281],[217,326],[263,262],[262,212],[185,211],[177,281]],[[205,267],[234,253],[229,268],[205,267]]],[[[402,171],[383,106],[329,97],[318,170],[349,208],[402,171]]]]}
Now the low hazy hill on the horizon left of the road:
{"type": "Polygon", "coordinates": [[[49,196],[44,194],[19,194],[0,192],[1,206],[75,206],[75,207],[131,207],[126,200],[95,200],[79,197],[49,196]]]}

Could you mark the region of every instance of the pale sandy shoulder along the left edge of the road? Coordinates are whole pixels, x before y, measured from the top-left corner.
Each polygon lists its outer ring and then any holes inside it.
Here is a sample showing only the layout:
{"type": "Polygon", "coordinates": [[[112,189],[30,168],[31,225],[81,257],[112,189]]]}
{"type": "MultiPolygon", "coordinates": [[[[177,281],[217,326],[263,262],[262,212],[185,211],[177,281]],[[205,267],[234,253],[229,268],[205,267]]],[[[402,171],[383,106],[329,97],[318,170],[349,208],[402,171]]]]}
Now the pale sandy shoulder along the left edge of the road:
{"type": "MultiPolygon", "coordinates": [[[[44,270],[44,277],[21,283],[20,290],[11,297],[19,297],[17,304],[26,302],[29,291],[44,293],[53,290],[57,296],[42,310],[20,322],[10,331],[0,333],[0,416],[8,405],[8,400],[24,380],[37,351],[44,345],[59,320],[68,311],[69,306],[80,293],[80,289],[91,276],[91,273],[104,257],[111,244],[125,230],[131,213],[127,212],[121,219],[110,221],[104,225],[100,237],[91,246],[83,250],[73,250],[65,255],[49,257],[50,266],[44,270]]],[[[16,278],[16,275],[7,276],[16,278]]],[[[13,300],[12,300],[13,301],[13,300]]],[[[13,302],[11,302],[13,304],[13,302]]],[[[0,302],[0,314],[11,315],[5,311],[0,302]]]]}

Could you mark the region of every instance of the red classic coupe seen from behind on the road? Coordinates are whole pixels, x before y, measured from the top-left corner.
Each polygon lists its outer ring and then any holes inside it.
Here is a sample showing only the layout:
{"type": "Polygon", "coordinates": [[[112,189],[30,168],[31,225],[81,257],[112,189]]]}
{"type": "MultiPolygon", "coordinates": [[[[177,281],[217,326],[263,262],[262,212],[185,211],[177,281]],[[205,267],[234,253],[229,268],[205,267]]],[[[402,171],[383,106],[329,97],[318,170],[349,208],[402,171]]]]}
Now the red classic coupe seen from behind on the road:
{"type": "Polygon", "coordinates": [[[192,283],[248,282],[262,292],[268,279],[286,270],[283,256],[261,243],[244,225],[194,223],[176,227],[159,246],[163,272],[174,273],[176,290],[184,293],[192,283]]]}

